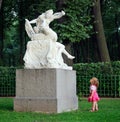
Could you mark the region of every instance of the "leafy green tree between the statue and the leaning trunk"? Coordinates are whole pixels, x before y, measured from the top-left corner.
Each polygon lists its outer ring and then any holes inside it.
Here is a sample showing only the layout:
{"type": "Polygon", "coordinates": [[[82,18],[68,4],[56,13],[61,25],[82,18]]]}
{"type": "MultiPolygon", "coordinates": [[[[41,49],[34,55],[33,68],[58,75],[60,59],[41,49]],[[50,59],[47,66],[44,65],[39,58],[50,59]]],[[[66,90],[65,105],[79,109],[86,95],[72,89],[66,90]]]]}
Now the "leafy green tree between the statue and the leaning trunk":
{"type": "MultiPolygon", "coordinates": [[[[66,12],[66,16],[58,20],[58,23],[55,23],[55,30],[59,36],[58,41],[64,43],[69,53],[74,52],[74,55],[78,57],[79,54],[76,50],[76,46],[74,46],[73,49],[73,44],[75,45],[76,42],[80,43],[81,41],[85,41],[90,37],[92,32],[92,24],[90,23],[91,1],[57,0],[56,4],[58,11],[64,10],[66,12]]],[[[79,49],[81,48],[84,47],[79,47],[79,49]]],[[[75,61],[78,59],[77,57],[75,61]]],[[[65,58],[65,62],[67,62],[67,64],[72,63],[71,60],[67,58],[65,58]]]]}

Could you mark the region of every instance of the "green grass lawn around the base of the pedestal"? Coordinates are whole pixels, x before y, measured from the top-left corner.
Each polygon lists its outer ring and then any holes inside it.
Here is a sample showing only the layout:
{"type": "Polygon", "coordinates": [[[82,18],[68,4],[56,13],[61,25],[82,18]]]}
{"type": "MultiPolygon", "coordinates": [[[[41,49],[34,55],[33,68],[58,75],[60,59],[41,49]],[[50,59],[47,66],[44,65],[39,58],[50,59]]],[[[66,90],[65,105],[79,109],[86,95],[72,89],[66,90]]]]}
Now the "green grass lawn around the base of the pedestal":
{"type": "Polygon", "coordinates": [[[120,99],[101,99],[99,111],[89,112],[91,103],[81,99],[77,111],[60,114],[15,112],[13,98],[0,98],[0,122],[120,122],[120,99]]]}

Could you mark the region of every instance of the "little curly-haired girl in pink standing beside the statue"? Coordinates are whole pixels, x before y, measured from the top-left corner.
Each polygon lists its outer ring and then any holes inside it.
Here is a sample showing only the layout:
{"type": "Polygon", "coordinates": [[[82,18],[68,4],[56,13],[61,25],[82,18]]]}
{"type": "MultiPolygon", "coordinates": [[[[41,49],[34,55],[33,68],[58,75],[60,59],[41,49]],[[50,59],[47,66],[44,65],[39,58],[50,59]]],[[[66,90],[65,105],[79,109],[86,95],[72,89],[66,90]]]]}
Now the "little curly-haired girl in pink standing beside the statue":
{"type": "Polygon", "coordinates": [[[98,111],[98,104],[97,102],[100,100],[97,88],[99,86],[99,81],[96,77],[90,79],[90,96],[88,97],[88,102],[92,102],[92,109],[91,112],[98,111]]]}

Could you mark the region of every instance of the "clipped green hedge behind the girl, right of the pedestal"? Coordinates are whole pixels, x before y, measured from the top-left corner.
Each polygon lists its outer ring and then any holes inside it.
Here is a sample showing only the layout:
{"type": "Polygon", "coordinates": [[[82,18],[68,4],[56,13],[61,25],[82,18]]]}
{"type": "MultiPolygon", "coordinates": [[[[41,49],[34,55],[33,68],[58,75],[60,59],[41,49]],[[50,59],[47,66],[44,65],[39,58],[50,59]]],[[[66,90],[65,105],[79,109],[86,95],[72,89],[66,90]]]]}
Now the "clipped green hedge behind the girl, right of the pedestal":
{"type": "Polygon", "coordinates": [[[77,73],[77,94],[89,95],[89,80],[97,77],[100,96],[120,97],[120,61],[74,64],[77,73]]]}

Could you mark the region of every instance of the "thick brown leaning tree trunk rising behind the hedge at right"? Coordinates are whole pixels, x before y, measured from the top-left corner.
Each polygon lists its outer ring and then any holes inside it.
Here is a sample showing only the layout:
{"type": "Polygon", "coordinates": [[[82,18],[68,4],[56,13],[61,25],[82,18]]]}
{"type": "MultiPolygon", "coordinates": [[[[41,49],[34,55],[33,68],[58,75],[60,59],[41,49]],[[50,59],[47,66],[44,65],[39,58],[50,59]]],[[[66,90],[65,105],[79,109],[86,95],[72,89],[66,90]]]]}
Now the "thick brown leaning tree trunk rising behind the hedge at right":
{"type": "Polygon", "coordinates": [[[95,17],[94,27],[95,27],[101,61],[110,62],[110,56],[106,44],[102,16],[101,16],[100,0],[94,0],[93,13],[95,17]]]}

